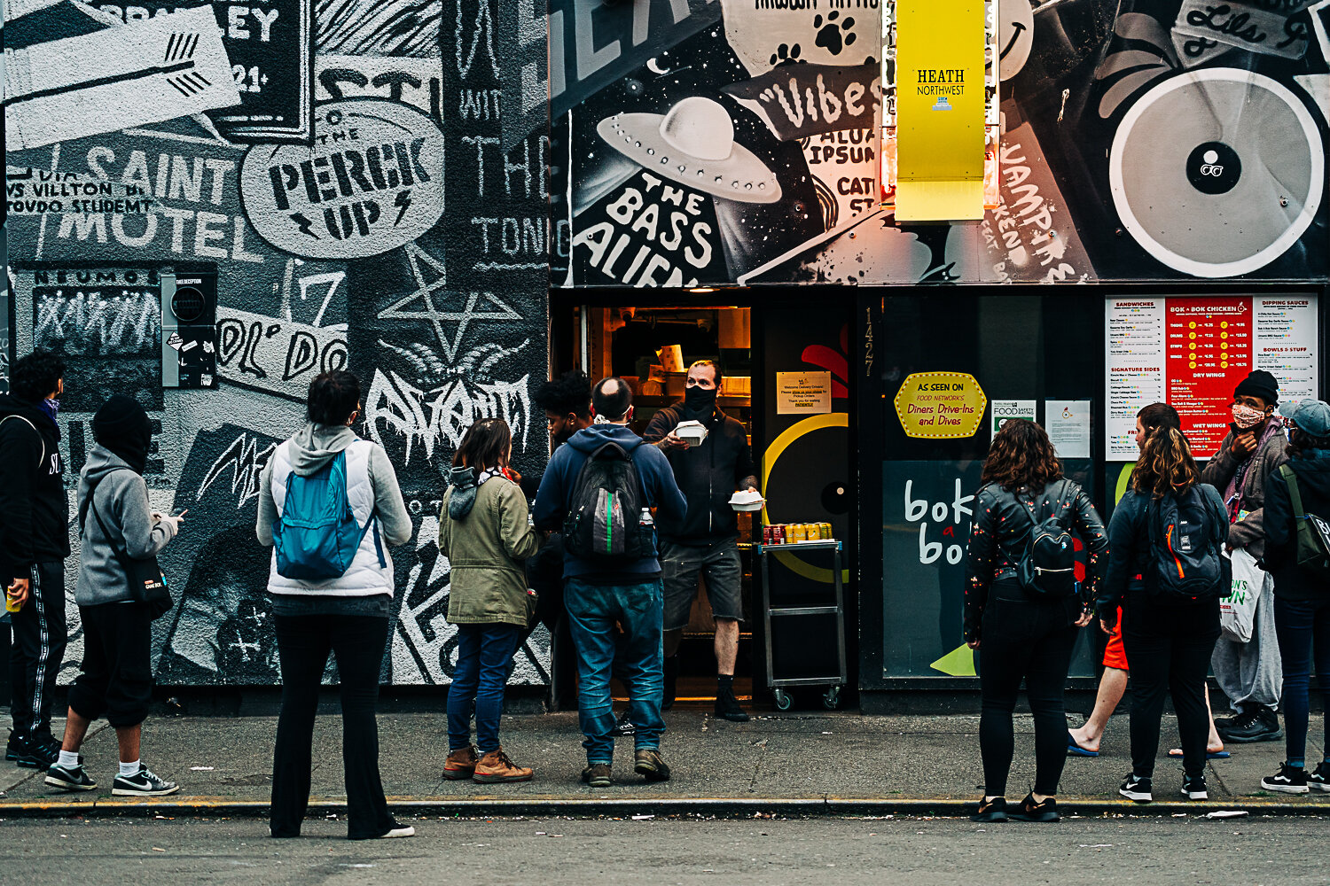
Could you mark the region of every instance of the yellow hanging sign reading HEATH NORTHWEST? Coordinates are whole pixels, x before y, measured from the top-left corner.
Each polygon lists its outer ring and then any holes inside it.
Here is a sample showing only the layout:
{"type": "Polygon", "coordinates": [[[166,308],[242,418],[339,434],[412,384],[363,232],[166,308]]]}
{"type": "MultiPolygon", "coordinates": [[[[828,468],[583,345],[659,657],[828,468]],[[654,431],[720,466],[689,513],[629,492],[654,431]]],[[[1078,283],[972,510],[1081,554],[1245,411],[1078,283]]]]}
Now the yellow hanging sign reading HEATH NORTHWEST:
{"type": "Polygon", "coordinates": [[[896,0],[895,15],[896,221],[980,219],[984,1],[896,0]]]}

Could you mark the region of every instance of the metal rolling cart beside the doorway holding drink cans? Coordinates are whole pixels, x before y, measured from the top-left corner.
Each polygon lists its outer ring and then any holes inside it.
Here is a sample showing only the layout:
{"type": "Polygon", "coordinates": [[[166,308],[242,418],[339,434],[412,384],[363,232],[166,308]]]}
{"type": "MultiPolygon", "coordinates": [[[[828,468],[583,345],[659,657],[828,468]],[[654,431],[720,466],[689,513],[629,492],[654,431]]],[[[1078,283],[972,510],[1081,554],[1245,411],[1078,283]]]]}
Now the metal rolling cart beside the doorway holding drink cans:
{"type": "Polygon", "coordinates": [[[822,704],[834,711],[841,704],[841,689],[847,680],[845,664],[845,600],[841,587],[842,543],[837,539],[794,542],[787,545],[757,545],[762,561],[762,619],[766,628],[766,685],[775,699],[777,711],[789,711],[793,700],[787,687],[825,685],[822,704]],[[771,587],[770,558],[789,551],[831,553],[833,582],[829,590],[783,595],[771,587]],[[773,592],[775,590],[777,592],[773,592]],[[773,600],[775,603],[773,604],[773,600]],[[834,627],[829,624],[834,620],[834,627]],[[774,623],[774,630],[773,630],[774,623]],[[802,626],[802,627],[801,627],[802,626]],[[817,646],[817,638],[835,636],[834,660],[827,650],[817,646]],[[795,640],[801,646],[795,647],[795,640]],[[810,643],[810,640],[813,640],[810,643]],[[785,647],[790,648],[786,651],[785,647]],[[781,648],[778,648],[781,647],[781,648]],[[831,673],[831,671],[835,673],[831,673]]]}

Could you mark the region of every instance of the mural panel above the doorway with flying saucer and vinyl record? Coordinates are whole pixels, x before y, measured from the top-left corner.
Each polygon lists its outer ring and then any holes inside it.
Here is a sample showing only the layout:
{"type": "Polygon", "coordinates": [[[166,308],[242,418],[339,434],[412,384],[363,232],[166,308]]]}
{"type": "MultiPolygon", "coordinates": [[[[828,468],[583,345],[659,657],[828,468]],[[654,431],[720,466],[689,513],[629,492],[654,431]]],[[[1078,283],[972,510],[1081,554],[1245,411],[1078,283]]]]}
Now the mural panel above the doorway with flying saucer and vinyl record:
{"type": "Polygon", "coordinates": [[[552,0],[555,283],[1326,279],[1326,0],[1001,0],[1001,203],[915,227],[891,8],[552,0]]]}

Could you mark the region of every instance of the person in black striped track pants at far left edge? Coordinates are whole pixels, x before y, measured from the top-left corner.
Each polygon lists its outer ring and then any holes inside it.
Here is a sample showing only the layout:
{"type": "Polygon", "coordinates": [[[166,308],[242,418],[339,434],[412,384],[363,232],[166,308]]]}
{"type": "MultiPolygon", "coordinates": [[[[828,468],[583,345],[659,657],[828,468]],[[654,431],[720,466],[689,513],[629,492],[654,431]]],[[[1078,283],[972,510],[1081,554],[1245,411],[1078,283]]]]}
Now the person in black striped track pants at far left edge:
{"type": "Polygon", "coordinates": [[[69,499],[56,412],[65,364],[48,352],[13,364],[0,395],[0,580],[11,600],[13,731],[5,760],[45,769],[60,756],[51,735],[51,693],[65,655],[65,558],[69,499]]]}

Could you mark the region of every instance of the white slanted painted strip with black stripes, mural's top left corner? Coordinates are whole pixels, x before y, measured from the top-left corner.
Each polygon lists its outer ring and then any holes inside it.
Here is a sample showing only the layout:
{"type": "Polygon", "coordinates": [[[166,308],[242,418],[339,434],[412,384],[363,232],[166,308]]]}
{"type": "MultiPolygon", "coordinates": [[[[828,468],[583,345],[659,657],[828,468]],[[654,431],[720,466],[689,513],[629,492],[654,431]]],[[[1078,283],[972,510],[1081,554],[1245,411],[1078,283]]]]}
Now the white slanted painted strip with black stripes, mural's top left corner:
{"type": "Polygon", "coordinates": [[[211,7],[5,53],[5,149],[239,104],[211,7]]]}

